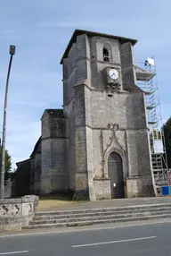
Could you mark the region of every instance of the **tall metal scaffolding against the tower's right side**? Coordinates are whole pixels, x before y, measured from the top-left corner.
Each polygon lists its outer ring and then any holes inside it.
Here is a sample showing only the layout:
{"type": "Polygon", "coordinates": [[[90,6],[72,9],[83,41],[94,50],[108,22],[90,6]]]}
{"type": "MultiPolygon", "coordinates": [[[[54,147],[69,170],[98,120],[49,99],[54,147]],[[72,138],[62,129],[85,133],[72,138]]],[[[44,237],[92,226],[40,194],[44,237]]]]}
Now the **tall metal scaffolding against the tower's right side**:
{"type": "Polygon", "coordinates": [[[154,190],[159,195],[161,186],[168,184],[168,168],[154,57],[136,60],[134,69],[136,73],[136,84],[143,90],[145,95],[150,132],[152,178],[154,190]]]}

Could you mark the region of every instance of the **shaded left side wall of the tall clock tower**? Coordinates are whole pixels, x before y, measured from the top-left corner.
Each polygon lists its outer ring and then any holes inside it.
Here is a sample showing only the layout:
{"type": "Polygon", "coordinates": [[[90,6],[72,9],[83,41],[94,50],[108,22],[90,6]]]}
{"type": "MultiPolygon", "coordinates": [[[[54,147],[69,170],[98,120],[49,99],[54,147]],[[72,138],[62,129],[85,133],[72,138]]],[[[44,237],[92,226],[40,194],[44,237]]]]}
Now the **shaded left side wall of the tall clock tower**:
{"type": "MultiPolygon", "coordinates": [[[[69,172],[69,189],[75,190],[76,178],[76,125],[75,125],[75,110],[77,103],[75,100],[74,86],[80,80],[85,80],[86,70],[88,68],[87,60],[88,42],[86,36],[77,37],[77,43],[74,43],[69,49],[69,55],[63,60],[63,98],[64,98],[64,113],[66,116],[66,129],[68,130],[69,140],[66,141],[66,162],[69,172]]],[[[78,116],[77,116],[78,118],[78,116]]]]}

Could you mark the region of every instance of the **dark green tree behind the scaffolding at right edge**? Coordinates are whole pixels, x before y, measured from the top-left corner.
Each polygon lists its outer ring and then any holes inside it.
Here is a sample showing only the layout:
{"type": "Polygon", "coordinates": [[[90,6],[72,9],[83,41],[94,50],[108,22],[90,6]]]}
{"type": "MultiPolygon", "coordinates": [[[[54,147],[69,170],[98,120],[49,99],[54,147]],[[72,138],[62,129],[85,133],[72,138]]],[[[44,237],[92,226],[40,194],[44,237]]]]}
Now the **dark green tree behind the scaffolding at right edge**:
{"type": "Polygon", "coordinates": [[[171,117],[169,117],[167,123],[163,125],[163,132],[167,150],[167,164],[168,168],[171,168],[171,117]]]}

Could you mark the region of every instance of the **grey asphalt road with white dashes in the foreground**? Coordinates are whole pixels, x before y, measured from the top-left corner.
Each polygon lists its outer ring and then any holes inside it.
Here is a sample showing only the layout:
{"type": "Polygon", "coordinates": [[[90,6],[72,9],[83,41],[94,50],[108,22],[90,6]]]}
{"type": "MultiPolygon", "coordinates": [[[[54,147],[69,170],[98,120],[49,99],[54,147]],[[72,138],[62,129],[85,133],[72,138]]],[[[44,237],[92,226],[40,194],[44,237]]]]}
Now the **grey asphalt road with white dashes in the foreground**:
{"type": "Polygon", "coordinates": [[[171,223],[0,237],[0,255],[161,256],[171,253],[171,223]]]}

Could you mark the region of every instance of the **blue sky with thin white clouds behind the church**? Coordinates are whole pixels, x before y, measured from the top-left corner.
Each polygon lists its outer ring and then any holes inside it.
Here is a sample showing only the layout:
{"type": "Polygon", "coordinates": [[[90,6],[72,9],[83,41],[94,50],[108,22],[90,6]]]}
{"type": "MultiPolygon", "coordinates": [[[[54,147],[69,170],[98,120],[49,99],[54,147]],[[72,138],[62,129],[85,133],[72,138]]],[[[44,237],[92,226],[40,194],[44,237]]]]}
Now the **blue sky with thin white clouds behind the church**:
{"type": "Polygon", "coordinates": [[[45,108],[62,106],[61,55],[75,29],[138,39],[134,58],[155,56],[163,122],[171,115],[170,0],[0,0],[0,137],[9,46],[6,149],[15,163],[29,158],[45,108]]]}

